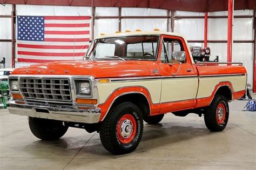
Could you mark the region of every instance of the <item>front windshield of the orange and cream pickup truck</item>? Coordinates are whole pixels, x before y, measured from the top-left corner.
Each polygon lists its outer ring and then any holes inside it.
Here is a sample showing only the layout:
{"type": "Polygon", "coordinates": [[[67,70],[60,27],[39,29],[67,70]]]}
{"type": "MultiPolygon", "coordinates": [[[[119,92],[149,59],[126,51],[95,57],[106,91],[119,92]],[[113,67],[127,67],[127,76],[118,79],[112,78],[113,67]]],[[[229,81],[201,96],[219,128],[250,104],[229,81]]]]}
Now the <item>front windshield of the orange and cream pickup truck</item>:
{"type": "Polygon", "coordinates": [[[126,36],[96,39],[87,57],[91,59],[156,60],[159,36],[126,36]]]}

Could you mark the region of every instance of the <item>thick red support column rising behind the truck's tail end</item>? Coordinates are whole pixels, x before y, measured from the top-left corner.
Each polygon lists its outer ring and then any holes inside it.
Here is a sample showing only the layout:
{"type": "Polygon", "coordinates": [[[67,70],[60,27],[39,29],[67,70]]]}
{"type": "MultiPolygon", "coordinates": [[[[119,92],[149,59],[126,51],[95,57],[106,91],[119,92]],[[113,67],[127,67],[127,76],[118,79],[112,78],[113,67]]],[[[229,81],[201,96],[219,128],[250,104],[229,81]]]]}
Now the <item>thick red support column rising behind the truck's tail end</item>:
{"type": "Polygon", "coordinates": [[[232,30],[233,30],[233,0],[228,0],[228,15],[227,15],[227,62],[232,62],[232,30]]]}

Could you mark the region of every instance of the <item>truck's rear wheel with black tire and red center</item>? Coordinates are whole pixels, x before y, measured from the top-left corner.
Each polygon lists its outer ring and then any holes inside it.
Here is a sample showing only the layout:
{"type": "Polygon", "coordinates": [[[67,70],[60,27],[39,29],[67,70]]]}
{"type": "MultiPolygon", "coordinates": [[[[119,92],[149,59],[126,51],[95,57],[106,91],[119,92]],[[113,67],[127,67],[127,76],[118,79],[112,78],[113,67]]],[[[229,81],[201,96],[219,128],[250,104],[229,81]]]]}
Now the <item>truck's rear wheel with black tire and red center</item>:
{"type": "Polygon", "coordinates": [[[213,132],[223,131],[227,126],[229,108],[224,96],[216,95],[204,114],[205,125],[213,132]]]}

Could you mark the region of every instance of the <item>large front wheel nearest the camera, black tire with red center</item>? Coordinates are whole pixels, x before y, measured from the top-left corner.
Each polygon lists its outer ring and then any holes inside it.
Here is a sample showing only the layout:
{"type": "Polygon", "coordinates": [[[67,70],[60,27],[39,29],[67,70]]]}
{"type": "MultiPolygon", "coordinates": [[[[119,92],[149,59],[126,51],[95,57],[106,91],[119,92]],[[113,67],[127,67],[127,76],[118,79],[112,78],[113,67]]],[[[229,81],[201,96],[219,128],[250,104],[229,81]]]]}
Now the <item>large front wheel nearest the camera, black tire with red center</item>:
{"type": "Polygon", "coordinates": [[[104,148],[113,154],[134,151],[143,134],[143,116],[131,102],[114,106],[100,128],[100,140],[104,148]]]}

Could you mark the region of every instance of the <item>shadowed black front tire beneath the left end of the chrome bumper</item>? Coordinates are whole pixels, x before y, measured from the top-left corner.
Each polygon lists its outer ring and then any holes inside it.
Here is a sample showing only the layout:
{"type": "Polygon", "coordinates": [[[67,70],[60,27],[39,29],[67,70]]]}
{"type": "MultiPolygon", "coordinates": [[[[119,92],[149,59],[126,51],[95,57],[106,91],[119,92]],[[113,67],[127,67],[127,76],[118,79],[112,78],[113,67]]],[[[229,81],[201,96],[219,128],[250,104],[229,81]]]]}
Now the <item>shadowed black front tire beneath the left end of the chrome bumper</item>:
{"type": "Polygon", "coordinates": [[[33,135],[42,140],[59,139],[69,128],[63,126],[62,121],[32,117],[29,117],[29,127],[33,135]]]}

